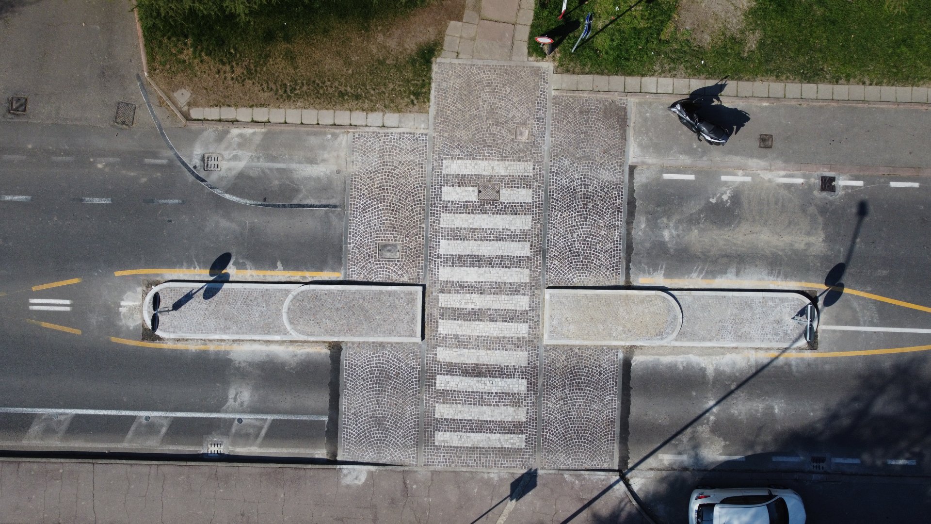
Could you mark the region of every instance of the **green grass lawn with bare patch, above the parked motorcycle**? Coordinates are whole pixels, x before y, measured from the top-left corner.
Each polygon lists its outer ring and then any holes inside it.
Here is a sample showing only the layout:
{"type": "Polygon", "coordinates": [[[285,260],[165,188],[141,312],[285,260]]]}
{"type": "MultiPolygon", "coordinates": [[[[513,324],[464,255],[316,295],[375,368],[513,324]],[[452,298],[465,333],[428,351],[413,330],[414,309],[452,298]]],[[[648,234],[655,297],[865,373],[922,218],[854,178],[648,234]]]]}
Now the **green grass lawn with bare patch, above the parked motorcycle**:
{"type": "MultiPolygon", "coordinates": [[[[538,0],[532,35],[561,4],[538,0]]],[[[594,36],[574,53],[581,30],[566,37],[548,59],[559,72],[931,85],[928,0],[589,0],[568,18],[588,12],[594,36]]]]}

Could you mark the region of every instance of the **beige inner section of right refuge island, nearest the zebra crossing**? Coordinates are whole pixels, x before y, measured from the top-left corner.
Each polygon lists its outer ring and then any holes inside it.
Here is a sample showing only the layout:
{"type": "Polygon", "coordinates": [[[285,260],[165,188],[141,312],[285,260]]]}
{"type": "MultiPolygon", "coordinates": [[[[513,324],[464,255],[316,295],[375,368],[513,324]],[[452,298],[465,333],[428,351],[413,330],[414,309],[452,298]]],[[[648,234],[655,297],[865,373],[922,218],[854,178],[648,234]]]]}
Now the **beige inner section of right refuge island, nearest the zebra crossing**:
{"type": "Polygon", "coordinates": [[[665,345],[681,324],[679,305],[662,291],[546,290],[546,344],[665,345]]]}

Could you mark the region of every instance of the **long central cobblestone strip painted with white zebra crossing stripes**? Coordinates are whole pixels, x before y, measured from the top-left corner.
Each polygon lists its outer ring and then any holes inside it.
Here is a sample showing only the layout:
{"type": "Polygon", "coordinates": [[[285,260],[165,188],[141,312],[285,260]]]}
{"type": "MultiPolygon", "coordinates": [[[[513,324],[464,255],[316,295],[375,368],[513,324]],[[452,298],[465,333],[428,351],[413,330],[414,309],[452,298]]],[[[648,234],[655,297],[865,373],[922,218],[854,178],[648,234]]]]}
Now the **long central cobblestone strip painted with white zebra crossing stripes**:
{"type": "Polygon", "coordinates": [[[425,465],[536,462],[548,76],[434,69],[425,465]]]}

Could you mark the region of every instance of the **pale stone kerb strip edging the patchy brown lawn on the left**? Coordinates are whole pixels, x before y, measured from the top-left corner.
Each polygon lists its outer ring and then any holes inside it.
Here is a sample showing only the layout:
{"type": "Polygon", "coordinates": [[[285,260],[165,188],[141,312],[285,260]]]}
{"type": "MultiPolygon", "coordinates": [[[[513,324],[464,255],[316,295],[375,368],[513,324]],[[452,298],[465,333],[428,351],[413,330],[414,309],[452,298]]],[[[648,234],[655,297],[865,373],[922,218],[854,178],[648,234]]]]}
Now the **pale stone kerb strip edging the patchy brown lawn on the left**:
{"type": "Polygon", "coordinates": [[[192,107],[190,120],[300,124],[353,128],[401,128],[425,130],[426,113],[385,113],[383,111],[336,111],[331,109],[276,109],[269,107],[192,107]]]}

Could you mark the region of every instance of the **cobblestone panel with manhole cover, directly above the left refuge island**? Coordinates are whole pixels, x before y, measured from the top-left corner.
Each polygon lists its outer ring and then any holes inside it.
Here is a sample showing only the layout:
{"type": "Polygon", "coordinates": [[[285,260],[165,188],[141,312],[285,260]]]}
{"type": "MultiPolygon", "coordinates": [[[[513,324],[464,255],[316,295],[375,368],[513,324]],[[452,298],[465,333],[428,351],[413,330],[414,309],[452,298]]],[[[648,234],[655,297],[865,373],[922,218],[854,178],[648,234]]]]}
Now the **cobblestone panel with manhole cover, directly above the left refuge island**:
{"type": "Polygon", "coordinates": [[[346,278],[424,282],[425,133],[353,136],[346,278]]]}

